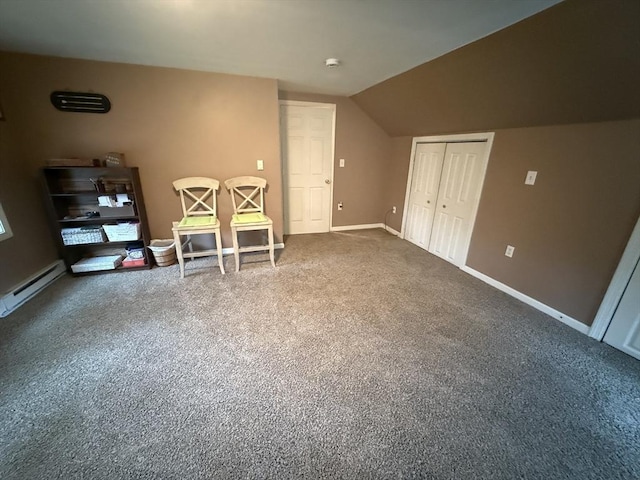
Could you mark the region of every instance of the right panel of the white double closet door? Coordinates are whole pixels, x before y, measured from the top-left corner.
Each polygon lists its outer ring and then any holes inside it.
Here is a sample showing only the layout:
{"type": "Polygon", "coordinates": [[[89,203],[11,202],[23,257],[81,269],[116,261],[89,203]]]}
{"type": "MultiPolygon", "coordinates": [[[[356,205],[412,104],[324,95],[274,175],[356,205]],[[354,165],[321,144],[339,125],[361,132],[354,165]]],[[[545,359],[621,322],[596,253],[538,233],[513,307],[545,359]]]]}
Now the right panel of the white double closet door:
{"type": "Polygon", "coordinates": [[[480,198],[484,142],[448,143],[438,191],[429,252],[461,267],[471,240],[480,198]]]}

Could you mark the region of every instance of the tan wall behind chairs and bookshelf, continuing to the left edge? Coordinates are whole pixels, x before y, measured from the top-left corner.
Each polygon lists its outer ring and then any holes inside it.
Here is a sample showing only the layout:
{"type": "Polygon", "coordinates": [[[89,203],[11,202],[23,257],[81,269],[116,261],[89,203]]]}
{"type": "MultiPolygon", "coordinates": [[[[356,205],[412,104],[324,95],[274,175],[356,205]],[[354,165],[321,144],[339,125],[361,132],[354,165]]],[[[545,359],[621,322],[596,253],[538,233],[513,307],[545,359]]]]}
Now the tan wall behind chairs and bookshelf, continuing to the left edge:
{"type": "MultiPolygon", "coordinates": [[[[57,258],[44,225],[38,169],[47,158],[124,152],[140,168],[151,234],[170,237],[171,182],[202,175],[267,178],[267,213],[282,240],[277,82],[214,73],[0,53],[0,200],[15,236],[0,243],[0,291],[57,258]],[[104,115],[59,112],[54,90],[105,94],[104,115]],[[265,170],[256,170],[263,159],[265,170]]],[[[231,202],[219,194],[223,244],[231,202]]]]}

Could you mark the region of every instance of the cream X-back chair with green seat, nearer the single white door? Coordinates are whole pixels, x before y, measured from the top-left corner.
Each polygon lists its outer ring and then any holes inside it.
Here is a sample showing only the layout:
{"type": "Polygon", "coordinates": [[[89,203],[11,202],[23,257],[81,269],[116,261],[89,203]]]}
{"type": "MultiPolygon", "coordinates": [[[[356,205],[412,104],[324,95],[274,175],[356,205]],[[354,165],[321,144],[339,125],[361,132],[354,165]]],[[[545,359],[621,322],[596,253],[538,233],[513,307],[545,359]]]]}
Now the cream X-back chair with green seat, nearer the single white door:
{"type": "Polygon", "coordinates": [[[264,189],[267,181],[259,177],[234,177],[224,182],[233,204],[231,217],[231,236],[233,239],[233,256],[236,259],[236,272],[240,270],[240,253],[269,251],[271,265],[276,266],[273,254],[273,221],[264,213],[264,189]],[[250,245],[241,247],[238,232],[266,230],[267,245],[250,245]]]}

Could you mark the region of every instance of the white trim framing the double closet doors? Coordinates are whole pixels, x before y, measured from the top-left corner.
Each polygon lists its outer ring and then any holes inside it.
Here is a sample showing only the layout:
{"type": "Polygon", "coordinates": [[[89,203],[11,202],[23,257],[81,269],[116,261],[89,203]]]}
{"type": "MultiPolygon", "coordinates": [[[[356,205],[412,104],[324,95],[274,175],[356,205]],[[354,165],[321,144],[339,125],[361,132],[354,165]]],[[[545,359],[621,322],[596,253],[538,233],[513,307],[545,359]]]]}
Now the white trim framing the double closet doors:
{"type": "MultiPolygon", "coordinates": [[[[478,214],[478,206],[480,205],[480,198],[482,197],[482,188],[484,187],[484,179],[487,175],[487,166],[489,165],[489,157],[491,155],[491,148],[493,147],[494,132],[481,132],[481,133],[462,133],[456,135],[430,135],[426,137],[413,137],[411,142],[411,158],[409,159],[409,174],[407,175],[407,188],[404,194],[404,208],[402,210],[402,228],[400,229],[400,238],[404,238],[405,229],[407,226],[409,207],[409,195],[411,194],[411,182],[413,181],[413,160],[415,158],[416,148],[419,143],[464,143],[464,142],[486,142],[487,147],[484,151],[484,158],[482,159],[482,173],[480,180],[480,194],[478,199],[473,205],[472,215],[470,220],[470,231],[473,234],[473,228],[476,223],[476,216],[478,214]]],[[[467,255],[469,254],[469,247],[471,246],[471,235],[467,245],[465,246],[464,261],[460,268],[467,265],[467,255]]]]}

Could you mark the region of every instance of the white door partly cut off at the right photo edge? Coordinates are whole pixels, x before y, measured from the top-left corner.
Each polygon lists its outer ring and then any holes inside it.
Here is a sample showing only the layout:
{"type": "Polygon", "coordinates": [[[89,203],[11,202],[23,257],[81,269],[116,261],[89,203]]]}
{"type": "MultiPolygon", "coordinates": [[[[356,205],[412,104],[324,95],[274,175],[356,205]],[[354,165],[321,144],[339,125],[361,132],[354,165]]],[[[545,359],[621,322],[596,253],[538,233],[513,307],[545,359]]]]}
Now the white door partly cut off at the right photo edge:
{"type": "Polygon", "coordinates": [[[640,263],[631,275],[604,341],[640,360],[640,263]]]}

